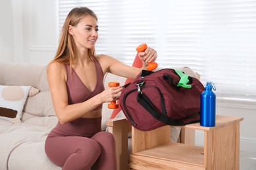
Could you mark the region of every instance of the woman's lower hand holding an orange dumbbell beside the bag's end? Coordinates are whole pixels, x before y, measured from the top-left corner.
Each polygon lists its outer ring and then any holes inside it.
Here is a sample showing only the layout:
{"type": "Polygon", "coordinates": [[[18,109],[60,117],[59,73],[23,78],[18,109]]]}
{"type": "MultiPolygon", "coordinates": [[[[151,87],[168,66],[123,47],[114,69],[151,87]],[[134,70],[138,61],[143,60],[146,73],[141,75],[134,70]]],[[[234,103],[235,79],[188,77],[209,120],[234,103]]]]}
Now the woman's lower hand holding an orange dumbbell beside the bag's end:
{"type": "Polygon", "coordinates": [[[120,92],[122,89],[123,88],[121,86],[107,88],[106,90],[100,93],[100,101],[102,103],[116,101],[117,99],[120,98],[120,95],[121,95],[120,92]]]}

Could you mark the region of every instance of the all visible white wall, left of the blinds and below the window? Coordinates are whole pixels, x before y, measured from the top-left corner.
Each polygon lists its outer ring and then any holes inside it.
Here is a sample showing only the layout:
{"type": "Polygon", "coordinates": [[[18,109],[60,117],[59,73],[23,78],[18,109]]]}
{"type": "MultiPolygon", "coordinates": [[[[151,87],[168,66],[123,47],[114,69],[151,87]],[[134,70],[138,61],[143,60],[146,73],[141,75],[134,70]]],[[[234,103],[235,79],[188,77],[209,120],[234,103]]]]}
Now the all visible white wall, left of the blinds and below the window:
{"type": "MultiPolygon", "coordinates": [[[[49,63],[57,44],[55,6],[53,0],[0,0],[0,61],[49,63]]],[[[244,117],[240,149],[256,153],[256,107],[218,102],[217,114],[244,117]]],[[[200,131],[196,144],[203,144],[200,131]]]]}

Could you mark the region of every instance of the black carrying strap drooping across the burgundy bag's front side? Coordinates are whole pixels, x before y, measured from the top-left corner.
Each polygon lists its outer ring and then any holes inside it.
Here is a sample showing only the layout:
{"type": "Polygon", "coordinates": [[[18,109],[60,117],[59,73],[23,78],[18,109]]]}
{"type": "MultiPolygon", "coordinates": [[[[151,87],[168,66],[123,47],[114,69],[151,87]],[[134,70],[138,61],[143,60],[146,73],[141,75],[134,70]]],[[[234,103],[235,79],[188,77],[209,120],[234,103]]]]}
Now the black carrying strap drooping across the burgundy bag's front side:
{"type": "Polygon", "coordinates": [[[171,126],[181,126],[183,125],[182,122],[178,121],[178,120],[173,120],[172,118],[169,118],[165,115],[167,115],[166,113],[166,109],[165,109],[165,103],[163,101],[163,95],[160,93],[160,98],[161,98],[161,107],[163,110],[163,114],[159,114],[156,107],[154,107],[152,101],[150,101],[150,99],[144,94],[144,93],[138,93],[137,95],[137,102],[140,103],[140,105],[142,105],[142,107],[144,107],[144,109],[148,110],[148,112],[157,120],[159,120],[160,122],[163,122],[164,124],[168,124],[171,126]]]}

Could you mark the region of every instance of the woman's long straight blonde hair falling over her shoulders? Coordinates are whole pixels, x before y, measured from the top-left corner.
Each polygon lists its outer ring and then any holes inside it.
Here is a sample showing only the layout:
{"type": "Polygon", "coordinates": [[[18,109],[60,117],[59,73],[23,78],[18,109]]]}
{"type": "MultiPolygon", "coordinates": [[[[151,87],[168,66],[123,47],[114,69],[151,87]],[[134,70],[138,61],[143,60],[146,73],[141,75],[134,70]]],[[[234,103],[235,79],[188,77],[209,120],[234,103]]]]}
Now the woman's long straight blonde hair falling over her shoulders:
{"type": "MultiPolygon", "coordinates": [[[[63,24],[58,49],[52,62],[57,61],[60,63],[69,64],[70,66],[74,63],[76,53],[75,42],[72,35],[68,33],[68,28],[70,25],[77,25],[81,18],[87,15],[93,16],[98,21],[95,12],[87,7],[77,7],[70,11],[63,24]]],[[[88,56],[91,61],[94,61],[95,48],[88,49],[88,56]]]]}

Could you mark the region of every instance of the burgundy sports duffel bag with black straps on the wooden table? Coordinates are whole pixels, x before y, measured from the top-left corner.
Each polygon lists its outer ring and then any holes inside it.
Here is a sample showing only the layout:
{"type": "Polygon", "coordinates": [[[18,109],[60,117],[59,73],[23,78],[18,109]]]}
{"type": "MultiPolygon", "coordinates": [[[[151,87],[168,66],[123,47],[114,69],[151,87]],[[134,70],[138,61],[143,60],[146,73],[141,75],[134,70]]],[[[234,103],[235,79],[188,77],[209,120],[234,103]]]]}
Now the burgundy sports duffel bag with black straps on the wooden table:
{"type": "Polygon", "coordinates": [[[141,131],[200,121],[200,80],[174,69],[142,72],[121,92],[119,103],[131,125],[141,131]]]}

